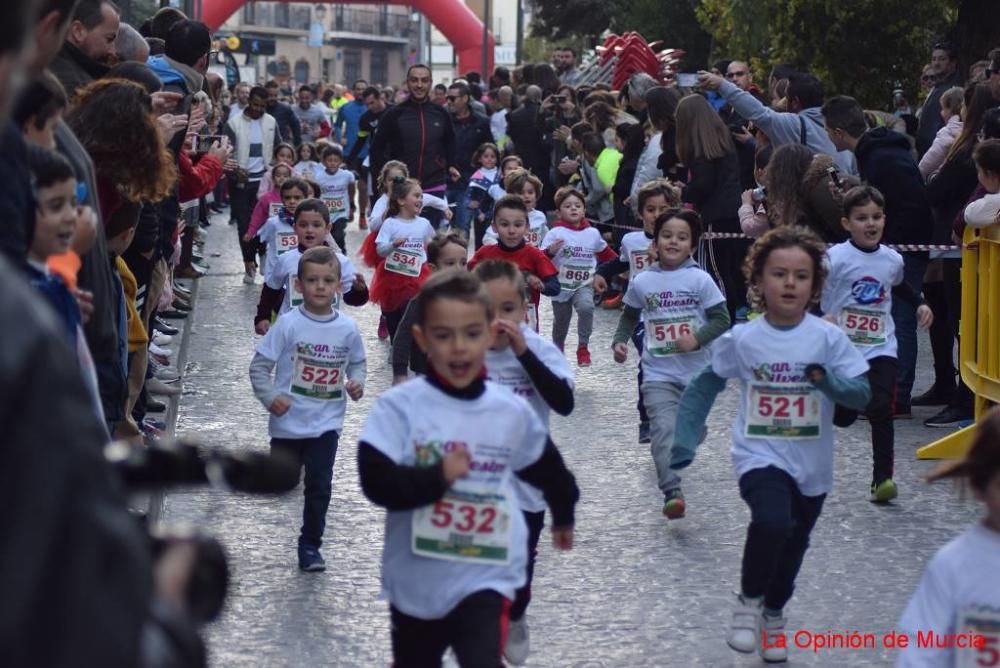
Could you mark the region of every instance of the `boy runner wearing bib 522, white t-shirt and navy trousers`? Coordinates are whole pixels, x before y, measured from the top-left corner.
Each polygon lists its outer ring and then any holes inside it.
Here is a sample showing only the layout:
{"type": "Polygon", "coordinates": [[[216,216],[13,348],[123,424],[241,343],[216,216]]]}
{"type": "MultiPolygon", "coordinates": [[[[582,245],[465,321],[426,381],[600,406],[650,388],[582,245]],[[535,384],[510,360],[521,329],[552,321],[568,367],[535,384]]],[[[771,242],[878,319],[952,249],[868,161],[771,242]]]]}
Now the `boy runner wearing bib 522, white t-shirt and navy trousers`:
{"type": "Polygon", "coordinates": [[[347,397],[358,401],[364,394],[361,332],[331,306],[340,276],[333,249],[304,252],[295,278],[302,305],[278,318],[250,363],[254,394],[271,413],[271,451],[287,453],[305,467],[298,552],[299,568],[310,572],[326,568],[319,548],[347,397]]]}

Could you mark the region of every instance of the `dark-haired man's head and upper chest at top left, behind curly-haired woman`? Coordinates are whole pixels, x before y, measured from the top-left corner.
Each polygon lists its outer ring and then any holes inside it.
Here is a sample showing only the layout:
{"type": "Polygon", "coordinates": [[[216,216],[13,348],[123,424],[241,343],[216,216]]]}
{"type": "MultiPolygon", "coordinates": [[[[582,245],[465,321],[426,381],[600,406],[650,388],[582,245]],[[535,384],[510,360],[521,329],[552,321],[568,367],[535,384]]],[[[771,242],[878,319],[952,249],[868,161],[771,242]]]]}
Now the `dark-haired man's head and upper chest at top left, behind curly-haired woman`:
{"type": "Polygon", "coordinates": [[[121,19],[110,0],[80,0],[52,73],[72,97],[94,79],[108,73],[115,57],[121,19]]]}

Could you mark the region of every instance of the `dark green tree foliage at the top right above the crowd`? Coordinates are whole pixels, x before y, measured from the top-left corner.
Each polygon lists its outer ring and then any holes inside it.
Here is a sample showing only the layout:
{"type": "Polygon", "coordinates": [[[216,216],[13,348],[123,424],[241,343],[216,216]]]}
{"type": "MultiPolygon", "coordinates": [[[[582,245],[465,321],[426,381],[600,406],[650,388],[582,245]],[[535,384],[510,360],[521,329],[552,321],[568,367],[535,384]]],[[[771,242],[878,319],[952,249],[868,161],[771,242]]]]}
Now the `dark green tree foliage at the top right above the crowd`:
{"type": "Polygon", "coordinates": [[[883,109],[893,88],[916,91],[953,7],[954,0],[703,0],[696,13],[715,39],[713,55],[749,57],[758,83],[772,65],[790,62],[820,77],[828,93],[883,109]]]}

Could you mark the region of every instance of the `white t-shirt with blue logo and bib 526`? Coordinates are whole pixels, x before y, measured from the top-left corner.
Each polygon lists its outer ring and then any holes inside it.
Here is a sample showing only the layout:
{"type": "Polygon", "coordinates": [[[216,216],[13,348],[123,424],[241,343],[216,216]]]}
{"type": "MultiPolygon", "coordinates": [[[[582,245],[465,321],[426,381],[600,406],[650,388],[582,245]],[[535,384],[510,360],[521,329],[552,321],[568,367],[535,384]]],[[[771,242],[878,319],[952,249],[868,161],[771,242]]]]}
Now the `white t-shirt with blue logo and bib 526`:
{"type": "Polygon", "coordinates": [[[871,253],[850,241],[826,252],[829,275],[820,308],[837,316],[840,328],[865,359],[896,356],[892,288],[903,282],[903,256],[879,246],[871,253]]]}

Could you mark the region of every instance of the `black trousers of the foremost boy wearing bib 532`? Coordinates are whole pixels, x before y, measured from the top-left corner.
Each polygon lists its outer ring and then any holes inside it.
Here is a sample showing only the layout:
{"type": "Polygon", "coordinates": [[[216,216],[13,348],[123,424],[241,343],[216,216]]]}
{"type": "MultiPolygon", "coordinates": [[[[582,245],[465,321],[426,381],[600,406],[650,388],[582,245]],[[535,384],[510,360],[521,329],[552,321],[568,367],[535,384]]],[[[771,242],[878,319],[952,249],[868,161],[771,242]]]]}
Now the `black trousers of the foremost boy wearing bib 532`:
{"type": "Polygon", "coordinates": [[[510,601],[495,591],[466,596],[442,619],[390,607],[393,668],[440,668],[451,647],[463,668],[502,668],[510,601]]]}

